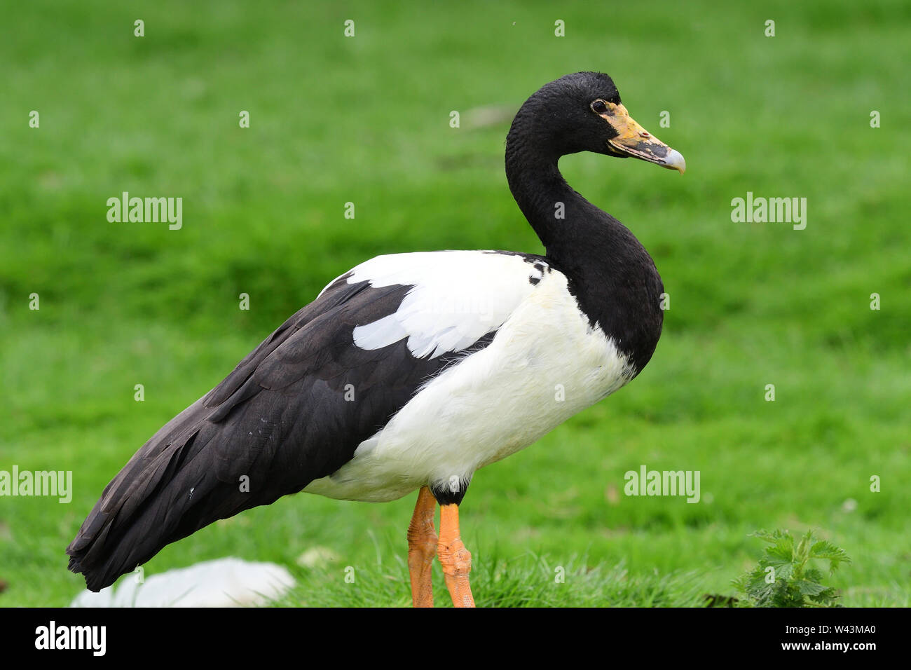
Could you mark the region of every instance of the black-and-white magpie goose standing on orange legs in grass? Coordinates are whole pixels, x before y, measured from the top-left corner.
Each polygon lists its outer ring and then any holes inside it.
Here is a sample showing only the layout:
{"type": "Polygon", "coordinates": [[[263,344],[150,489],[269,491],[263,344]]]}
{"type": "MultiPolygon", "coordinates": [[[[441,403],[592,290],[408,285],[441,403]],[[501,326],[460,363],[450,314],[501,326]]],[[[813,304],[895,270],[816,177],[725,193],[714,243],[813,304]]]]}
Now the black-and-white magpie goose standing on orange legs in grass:
{"type": "Polygon", "coordinates": [[[625,385],[661,333],[649,253],[560,175],[560,157],[579,151],[685,169],[607,75],[550,82],[506,147],[509,188],[547,253],[400,253],[344,273],[138,450],[67,548],[69,569],[97,591],[290,493],[382,502],[418,490],[414,604],[433,604],[437,555],[453,603],[473,606],[458,506],[475,471],[625,385]]]}

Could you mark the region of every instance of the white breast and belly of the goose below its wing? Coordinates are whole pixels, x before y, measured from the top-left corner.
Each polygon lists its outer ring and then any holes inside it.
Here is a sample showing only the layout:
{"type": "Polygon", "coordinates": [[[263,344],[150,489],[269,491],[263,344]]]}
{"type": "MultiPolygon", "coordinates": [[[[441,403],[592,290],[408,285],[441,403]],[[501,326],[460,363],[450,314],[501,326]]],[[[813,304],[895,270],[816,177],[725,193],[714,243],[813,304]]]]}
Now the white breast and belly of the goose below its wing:
{"type": "Polygon", "coordinates": [[[466,481],[631,376],[613,341],[589,328],[565,275],[548,273],[489,345],[432,379],[352,460],[304,490],[382,502],[466,481]]]}

